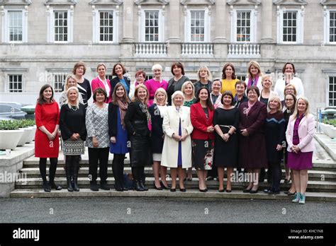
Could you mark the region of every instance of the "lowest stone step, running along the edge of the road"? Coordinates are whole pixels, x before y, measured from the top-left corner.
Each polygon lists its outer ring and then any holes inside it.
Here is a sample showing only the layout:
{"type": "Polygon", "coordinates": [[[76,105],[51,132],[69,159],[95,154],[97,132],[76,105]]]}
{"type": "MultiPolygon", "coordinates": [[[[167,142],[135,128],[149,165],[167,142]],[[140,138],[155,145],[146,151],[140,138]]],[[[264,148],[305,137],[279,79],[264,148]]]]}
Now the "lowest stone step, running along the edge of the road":
{"type": "MultiPolygon", "coordinates": [[[[264,200],[281,200],[291,201],[293,196],[286,194],[269,195],[264,192],[257,194],[242,193],[241,190],[233,190],[231,193],[219,193],[217,190],[209,190],[206,193],[199,192],[198,189],[187,189],[186,192],[170,192],[169,190],[149,189],[147,192],[116,192],[99,190],[92,192],[90,189],[81,188],[79,192],[68,192],[67,189],[60,191],[44,192],[43,189],[16,189],[11,192],[11,197],[28,197],[28,198],[55,198],[55,197],[157,197],[157,198],[181,198],[181,199],[264,199],[264,200]]],[[[306,192],[306,203],[309,201],[336,201],[336,193],[332,192],[306,192]]],[[[299,205],[298,205],[299,206],[299,205]]]]}

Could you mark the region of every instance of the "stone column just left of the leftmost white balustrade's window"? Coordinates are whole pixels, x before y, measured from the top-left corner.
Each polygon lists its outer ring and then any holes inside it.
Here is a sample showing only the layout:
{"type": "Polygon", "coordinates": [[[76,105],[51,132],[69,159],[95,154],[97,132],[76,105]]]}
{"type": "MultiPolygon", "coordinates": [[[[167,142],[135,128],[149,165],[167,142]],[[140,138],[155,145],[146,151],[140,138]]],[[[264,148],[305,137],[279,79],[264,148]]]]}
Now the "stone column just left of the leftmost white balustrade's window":
{"type": "Polygon", "coordinates": [[[133,25],[133,1],[123,1],[123,40],[121,42],[134,42],[133,25]]]}

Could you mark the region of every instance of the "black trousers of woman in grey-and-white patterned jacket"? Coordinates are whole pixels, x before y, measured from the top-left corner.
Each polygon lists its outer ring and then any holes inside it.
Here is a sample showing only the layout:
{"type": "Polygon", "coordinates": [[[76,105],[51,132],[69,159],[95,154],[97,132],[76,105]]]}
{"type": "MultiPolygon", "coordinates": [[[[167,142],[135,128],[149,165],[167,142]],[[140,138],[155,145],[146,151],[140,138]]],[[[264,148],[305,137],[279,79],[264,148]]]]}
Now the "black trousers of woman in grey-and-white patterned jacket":
{"type": "Polygon", "coordinates": [[[89,177],[92,182],[96,182],[97,180],[98,163],[101,183],[106,182],[109,150],[109,147],[89,148],[89,177]]]}

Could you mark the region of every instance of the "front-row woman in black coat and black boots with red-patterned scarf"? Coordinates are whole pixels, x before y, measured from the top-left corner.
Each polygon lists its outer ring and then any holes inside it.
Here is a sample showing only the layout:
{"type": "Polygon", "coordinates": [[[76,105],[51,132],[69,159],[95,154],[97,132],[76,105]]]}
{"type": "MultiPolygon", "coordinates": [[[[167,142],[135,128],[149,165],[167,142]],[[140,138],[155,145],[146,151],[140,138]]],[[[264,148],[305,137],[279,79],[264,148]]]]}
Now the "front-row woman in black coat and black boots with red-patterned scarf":
{"type": "Polygon", "coordinates": [[[147,87],[135,88],[134,99],[128,105],[125,124],[130,137],[130,166],[133,182],[138,192],[148,190],[145,187],[145,165],[152,163],[150,151],[150,131],[152,129],[150,112],[147,107],[149,93],[147,87]]]}

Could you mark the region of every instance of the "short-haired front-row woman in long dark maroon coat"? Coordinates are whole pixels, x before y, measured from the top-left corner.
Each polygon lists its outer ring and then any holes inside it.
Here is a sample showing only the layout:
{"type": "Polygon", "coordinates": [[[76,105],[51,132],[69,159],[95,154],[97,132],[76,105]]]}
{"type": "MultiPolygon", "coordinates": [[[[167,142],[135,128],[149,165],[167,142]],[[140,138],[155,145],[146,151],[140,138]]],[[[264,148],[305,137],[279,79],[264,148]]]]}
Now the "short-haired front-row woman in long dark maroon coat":
{"type": "Polygon", "coordinates": [[[264,124],[267,106],[259,102],[260,92],[257,86],[247,88],[247,102],[242,102],[240,111],[240,148],[239,166],[249,173],[245,182],[249,185],[243,192],[257,193],[261,168],[267,167],[264,124]]]}

